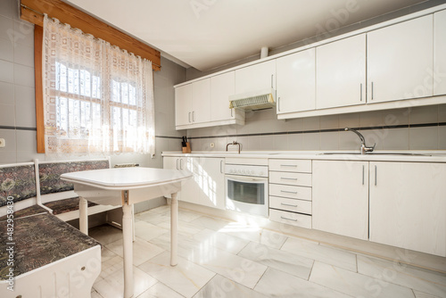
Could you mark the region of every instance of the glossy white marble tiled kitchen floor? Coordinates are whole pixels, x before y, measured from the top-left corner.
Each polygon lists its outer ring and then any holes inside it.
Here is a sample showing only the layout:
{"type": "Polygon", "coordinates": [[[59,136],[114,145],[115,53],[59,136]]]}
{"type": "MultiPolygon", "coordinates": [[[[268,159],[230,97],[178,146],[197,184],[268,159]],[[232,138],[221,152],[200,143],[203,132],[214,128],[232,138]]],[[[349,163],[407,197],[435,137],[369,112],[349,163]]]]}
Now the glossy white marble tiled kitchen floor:
{"type": "MultiPolygon", "coordinates": [[[[102,249],[93,298],[122,297],[122,236],[90,230],[102,249]]],[[[178,266],[169,266],[169,207],[136,214],[135,296],[446,297],[446,275],[191,211],[178,215],[178,266]]]]}

